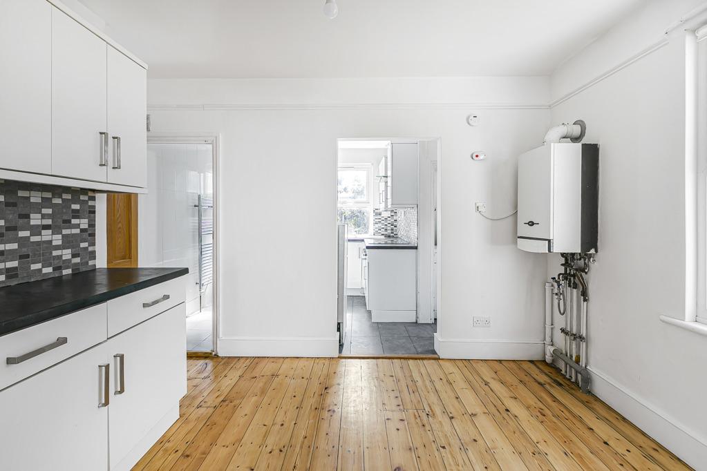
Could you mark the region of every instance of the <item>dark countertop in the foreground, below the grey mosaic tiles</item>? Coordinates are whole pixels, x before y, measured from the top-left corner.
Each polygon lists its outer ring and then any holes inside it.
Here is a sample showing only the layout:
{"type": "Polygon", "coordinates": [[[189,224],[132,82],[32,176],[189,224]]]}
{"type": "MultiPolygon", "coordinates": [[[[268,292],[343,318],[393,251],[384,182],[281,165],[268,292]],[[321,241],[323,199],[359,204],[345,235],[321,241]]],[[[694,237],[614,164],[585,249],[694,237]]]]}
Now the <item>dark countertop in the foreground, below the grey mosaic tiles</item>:
{"type": "Polygon", "coordinates": [[[96,268],[0,288],[0,335],[189,273],[188,268],[96,268]]]}

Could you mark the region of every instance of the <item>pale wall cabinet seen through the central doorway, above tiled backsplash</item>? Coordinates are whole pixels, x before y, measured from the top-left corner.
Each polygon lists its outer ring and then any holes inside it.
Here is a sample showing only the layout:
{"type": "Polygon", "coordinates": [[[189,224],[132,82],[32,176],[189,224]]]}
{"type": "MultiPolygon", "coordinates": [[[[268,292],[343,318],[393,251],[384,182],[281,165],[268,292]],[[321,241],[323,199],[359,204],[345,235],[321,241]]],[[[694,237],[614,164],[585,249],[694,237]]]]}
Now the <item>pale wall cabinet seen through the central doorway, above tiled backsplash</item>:
{"type": "Polygon", "coordinates": [[[392,143],[387,169],[387,207],[416,205],[419,199],[417,143],[392,143]]]}

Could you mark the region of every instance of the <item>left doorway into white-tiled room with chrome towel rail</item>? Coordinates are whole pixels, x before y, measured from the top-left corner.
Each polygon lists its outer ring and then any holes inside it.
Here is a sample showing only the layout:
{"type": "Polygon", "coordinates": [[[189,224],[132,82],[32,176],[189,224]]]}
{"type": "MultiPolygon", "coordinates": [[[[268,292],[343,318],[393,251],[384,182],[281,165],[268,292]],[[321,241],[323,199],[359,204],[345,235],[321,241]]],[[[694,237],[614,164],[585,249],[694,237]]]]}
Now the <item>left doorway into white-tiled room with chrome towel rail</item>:
{"type": "Polygon", "coordinates": [[[141,266],[188,267],[187,353],[215,354],[216,137],[148,138],[141,266]]]}

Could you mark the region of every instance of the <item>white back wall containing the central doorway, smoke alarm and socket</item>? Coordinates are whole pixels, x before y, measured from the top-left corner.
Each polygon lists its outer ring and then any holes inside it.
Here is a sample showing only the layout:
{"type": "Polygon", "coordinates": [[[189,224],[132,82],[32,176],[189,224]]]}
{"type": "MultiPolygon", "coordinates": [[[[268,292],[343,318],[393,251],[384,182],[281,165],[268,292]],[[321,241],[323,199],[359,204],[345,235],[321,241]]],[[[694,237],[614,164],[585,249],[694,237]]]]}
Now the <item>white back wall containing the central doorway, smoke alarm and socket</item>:
{"type": "Polygon", "coordinates": [[[542,357],[543,256],[515,248],[517,156],[549,125],[547,78],[152,80],[153,135],[221,135],[221,354],[337,354],[337,138],[439,137],[446,357],[542,357]],[[469,113],[482,124],[467,126],[469,113]],[[508,129],[515,130],[508,133],[508,129]],[[483,149],[484,162],[469,154],[483,149]],[[310,179],[316,185],[303,184],[310,179]],[[472,315],[491,328],[472,328],[472,315]]]}

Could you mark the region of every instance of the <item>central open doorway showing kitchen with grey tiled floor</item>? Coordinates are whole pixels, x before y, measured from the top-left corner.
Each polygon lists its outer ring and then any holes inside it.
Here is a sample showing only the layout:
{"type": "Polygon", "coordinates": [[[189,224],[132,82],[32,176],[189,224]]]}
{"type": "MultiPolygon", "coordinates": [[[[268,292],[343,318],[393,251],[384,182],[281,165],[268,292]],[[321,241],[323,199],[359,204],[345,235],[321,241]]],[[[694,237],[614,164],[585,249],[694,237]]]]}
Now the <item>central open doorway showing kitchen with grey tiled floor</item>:
{"type": "Polygon", "coordinates": [[[339,139],[339,354],[436,355],[438,140],[339,139]]]}

